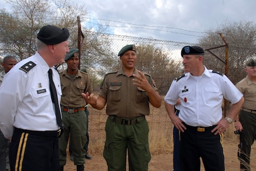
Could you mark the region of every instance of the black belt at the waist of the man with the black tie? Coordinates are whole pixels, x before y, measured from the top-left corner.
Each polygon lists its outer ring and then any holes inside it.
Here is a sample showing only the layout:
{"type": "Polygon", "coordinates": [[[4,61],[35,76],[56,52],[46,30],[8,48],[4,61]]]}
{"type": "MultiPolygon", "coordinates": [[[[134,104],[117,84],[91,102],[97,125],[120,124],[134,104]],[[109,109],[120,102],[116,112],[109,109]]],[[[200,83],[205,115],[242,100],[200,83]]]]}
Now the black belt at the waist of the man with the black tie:
{"type": "Polygon", "coordinates": [[[32,135],[39,135],[43,137],[61,137],[64,128],[59,128],[57,131],[31,131],[31,130],[23,130],[20,128],[15,128],[15,131],[18,131],[20,133],[29,133],[32,135]]]}

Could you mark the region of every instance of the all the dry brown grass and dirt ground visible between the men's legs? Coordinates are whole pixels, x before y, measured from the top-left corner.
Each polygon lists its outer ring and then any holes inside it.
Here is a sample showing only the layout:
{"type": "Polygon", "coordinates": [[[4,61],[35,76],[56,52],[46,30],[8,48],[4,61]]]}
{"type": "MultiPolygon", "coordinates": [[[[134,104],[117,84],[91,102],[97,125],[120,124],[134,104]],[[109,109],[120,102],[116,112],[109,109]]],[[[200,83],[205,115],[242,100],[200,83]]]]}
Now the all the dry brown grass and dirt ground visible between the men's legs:
{"type": "MultiPolygon", "coordinates": [[[[103,158],[103,148],[105,144],[105,123],[108,116],[105,109],[98,111],[89,106],[89,153],[93,160],[87,160],[86,170],[107,170],[106,162],[103,158]]],[[[173,124],[167,117],[165,106],[160,108],[151,108],[151,113],[147,116],[150,127],[149,143],[151,151],[151,162],[149,163],[150,171],[172,170],[172,152],[173,152],[173,124]]],[[[239,135],[235,135],[235,128],[232,125],[225,131],[223,149],[225,154],[225,170],[233,171],[239,169],[239,160],[237,157],[239,135]]],[[[256,143],[252,145],[251,170],[256,170],[256,143]]],[[[76,170],[74,163],[68,160],[65,170],[76,170]]],[[[203,163],[201,170],[204,171],[203,163]]]]}

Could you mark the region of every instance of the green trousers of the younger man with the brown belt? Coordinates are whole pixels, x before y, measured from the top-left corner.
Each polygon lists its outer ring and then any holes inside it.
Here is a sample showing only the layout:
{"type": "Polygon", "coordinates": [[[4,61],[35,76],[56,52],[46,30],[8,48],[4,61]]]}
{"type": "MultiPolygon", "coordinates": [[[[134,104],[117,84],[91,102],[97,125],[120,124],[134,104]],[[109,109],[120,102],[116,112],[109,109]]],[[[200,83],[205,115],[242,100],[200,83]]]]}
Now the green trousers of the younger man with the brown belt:
{"type": "Polygon", "coordinates": [[[84,150],[84,144],[86,144],[86,122],[87,117],[84,111],[78,111],[75,113],[67,113],[62,110],[62,122],[64,124],[64,133],[59,138],[59,165],[64,166],[67,162],[67,144],[70,134],[72,139],[69,146],[72,147],[74,155],[74,164],[83,165],[86,161],[86,150],[84,150]]]}

